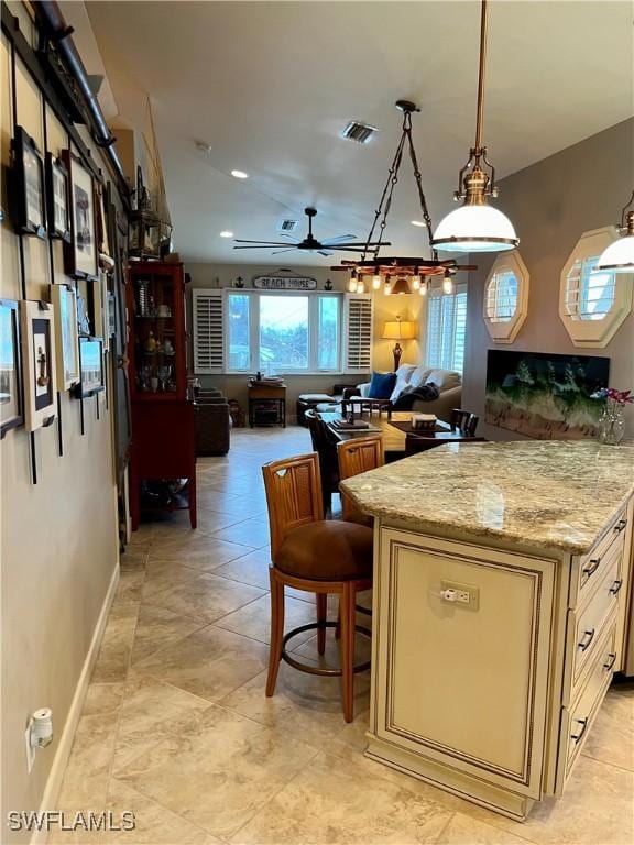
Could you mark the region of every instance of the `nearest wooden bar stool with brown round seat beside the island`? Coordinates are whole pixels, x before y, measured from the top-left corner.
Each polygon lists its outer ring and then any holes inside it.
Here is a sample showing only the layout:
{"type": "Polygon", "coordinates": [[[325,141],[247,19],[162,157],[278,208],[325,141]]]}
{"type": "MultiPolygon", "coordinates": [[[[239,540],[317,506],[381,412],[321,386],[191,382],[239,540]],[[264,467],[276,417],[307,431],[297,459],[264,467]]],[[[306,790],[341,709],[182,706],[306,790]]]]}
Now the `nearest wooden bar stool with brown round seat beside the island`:
{"type": "Polygon", "coordinates": [[[353,717],[354,672],[370,662],[354,666],[354,632],[371,636],[356,625],[358,592],[372,585],[372,530],[354,523],[324,519],[318,456],[302,454],[262,467],[271,528],[271,648],[266,695],[273,695],[280,661],[309,674],[341,676],[343,718],[353,717]],[[284,588],[305,590],[317,596],[317,622],[284,635],[284,588]],[[326,621],[328,594],[339,595],[341,663],[321,669],[302,663],[286,650],[286,644],[305,630],[317,630],[317,651],[326,649],[326,629],[338,623],[326,621]]]}

